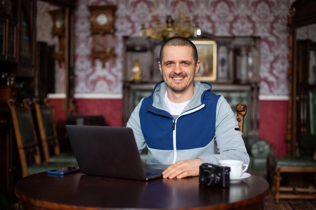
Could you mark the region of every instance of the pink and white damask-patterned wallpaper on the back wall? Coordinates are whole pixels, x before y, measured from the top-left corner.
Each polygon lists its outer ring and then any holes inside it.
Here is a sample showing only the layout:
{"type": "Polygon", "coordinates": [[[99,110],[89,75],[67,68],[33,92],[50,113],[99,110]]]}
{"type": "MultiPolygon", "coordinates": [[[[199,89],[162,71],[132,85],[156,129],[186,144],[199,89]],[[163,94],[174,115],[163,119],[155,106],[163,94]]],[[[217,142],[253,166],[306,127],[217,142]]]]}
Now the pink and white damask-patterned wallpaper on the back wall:
{"type": "MultiPolygon", "coordinates": [[[[288,95],[288,33],[286,28],[290,5],[294,0],[187,0],[193,22],[202,31],[216,36],[259,36],[260,95],[288,95]]],[[[122,93],[122,36],[137,36],[140,25],[148,27],[152,7],[164,22],[174,15],[177,0],[78,0],[75,12],[75,93],[122,93]],[[116,5],[116,54],[102,68],[99,61],[92,67],[89,57],[91,5],[116,5]]],[[[38,11],[41,13],[43,11],[38,11]]],[[[40,25],[40,24],[38,24],[40,25]]],[[[40,26],[38,26],[40,27],[40,26]]],[[[38,29],[39,31],[39,29],[38,29]]],[[[57,71],[58,72],[58,71],[57,71]]],[[[59,72],[58,72],[59,73],[59,72]]],[[[65,80],[57,74],[57,87],[65,80]]],[[[62,90],[57,90],[62,91],[62,90]]]]}

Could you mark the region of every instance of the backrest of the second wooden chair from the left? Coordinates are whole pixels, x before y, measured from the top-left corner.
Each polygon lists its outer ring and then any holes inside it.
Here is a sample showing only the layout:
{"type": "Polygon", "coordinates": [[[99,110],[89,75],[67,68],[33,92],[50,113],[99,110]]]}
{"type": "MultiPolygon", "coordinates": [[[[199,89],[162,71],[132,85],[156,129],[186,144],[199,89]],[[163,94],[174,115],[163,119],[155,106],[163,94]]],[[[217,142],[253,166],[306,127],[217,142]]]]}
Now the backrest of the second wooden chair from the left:
{"type": "Polygon", "coordinates": [[[48,162],[50,158],[50,148],[54,150],[55,155],[60,155],[60,146],[55,124],[55,109],[47,98],[45,98],[42,103],[38,98],[34,98],[32,101],[35,107],[44,160],[48,162]]]}

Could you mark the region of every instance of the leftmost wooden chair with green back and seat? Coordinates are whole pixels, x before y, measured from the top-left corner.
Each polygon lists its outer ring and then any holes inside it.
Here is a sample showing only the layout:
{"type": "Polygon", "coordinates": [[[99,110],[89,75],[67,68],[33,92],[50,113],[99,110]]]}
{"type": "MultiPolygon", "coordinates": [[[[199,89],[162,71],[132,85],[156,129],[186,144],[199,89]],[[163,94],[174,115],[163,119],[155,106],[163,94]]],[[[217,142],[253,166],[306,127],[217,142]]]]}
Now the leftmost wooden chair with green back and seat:
{"type": "Polygon", "coordinates": [[[34,129],[29,100],[23,100],[23,107],[17,106],[14,99],[8,100],[17,141],[22,177],[47,170],[73,165],[70,163],[41,163],[36,132],[34,129]]]}

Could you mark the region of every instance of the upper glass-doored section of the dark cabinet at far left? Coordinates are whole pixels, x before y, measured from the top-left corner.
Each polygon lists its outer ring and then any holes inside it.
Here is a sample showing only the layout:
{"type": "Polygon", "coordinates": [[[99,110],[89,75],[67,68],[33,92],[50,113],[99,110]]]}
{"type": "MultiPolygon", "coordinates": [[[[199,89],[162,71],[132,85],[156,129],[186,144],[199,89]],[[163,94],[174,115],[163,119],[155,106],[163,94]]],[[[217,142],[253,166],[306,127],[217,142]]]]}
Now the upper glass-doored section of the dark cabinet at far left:
{"type": "Polygon", "coordinates": [[[11,10],[0,10],[0,90],[15,89],[14,94],[1,94],[0,101],[34,96],[35,84],[35,0],[8,1],[11,10]]]}

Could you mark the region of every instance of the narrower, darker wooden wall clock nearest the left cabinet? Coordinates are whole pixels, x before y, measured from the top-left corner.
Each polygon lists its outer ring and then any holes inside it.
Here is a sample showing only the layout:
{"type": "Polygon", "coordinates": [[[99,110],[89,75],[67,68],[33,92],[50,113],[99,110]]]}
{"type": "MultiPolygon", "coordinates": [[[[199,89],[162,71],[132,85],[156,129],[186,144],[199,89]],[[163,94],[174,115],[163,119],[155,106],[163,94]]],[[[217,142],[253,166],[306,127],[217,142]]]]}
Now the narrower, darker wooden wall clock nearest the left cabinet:
{"type": "Polygon", "coordinates": [[[58,37],[58,49],[52,55],[61,65],[65,61],[65,10],[49,11],[52,18],[51,35],[58,37]]]}

